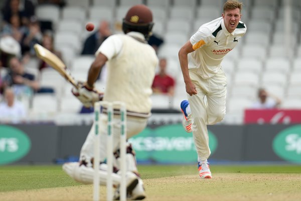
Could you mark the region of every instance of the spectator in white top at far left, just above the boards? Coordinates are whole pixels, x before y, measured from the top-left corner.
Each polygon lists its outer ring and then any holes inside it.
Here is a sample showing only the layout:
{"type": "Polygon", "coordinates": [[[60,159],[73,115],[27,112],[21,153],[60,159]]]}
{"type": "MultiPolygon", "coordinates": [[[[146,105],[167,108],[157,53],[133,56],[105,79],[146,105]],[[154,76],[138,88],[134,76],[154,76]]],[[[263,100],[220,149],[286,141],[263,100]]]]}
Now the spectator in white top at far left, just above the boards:
{"type": "Polygon", "coordinates": [[[0,122],[20,123],[26,117],[26,110],[22,103],[15,100],[14,90],[6,88],[4,102],[0,103],[0,122]]]}

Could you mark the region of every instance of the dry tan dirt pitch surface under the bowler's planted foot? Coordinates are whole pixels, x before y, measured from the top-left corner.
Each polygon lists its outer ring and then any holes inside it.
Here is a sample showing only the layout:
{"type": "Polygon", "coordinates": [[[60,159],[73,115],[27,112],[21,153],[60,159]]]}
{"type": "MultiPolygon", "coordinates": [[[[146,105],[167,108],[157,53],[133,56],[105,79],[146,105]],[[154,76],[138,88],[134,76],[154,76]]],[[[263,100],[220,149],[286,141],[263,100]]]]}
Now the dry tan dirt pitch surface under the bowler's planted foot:
{"type": "MultiPolygon", "coordinates": [[[[296,173],[215,173],[213,179],[181,175],[144,179],[144,200],[301,200],[296,173]]],[[[105,199],[105,187],[100,189],[105,199]]],[[[2,201],[92,200],[92,185],[0,192],[2,201]]]]}

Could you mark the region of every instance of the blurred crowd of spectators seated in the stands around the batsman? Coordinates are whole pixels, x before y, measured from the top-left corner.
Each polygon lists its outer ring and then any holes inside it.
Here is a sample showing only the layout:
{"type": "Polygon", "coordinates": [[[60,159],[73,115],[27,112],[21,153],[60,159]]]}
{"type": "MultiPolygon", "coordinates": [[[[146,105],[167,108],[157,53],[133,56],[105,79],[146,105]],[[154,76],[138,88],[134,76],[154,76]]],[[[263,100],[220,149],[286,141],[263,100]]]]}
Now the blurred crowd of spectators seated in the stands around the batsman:
{"type": "MultiPolygon", "coordinates": [[[[4,0],[2,3],[2,20],[0,21],[0,100],[7,110],[0,108],[0,118],[19,116],[22,100],[30,99],[36,93],[53,93],[54,88],[41,87],[41,72],[49,68],[47,63],[39,60],[38,73],[28,68],[32,58],[37,59],[34,45],[40,44],[55,53],[64,61],[62,53],[54,47],[55,30],[51,22],[39,21],[36,17],[36,8],[43,4],[54,4],[60,8],[66,6],[64,0],[4,0]],[[9,101],[8,97],[16,99],[9,101]],[[16,109],[18,108],[18,109],[16,109]],[[15,112],[14,112],[15,111],[15,112]]],[[[100,44],[109,37],[113,31],[107,21],[99,22],[94,32],[88,35],[82,45],[81,55],[94,55],[100,44]]],[[[158,35],[149,38],[148,43],[157,51],[164,43],[158,35]]],[[[64,61],[66,62],[66,61],[64,61]]],[[[167,59],[161,58],[158,74],[154,80],[154,93],[174,94],[175,79],[167,73],[167,59]]],[[[103,76],[103,75],[102,75],[103,76]]],[[[101,78],[101,77],[99,77],[101,78]]],[[[23,106],[26,112],[26,107],[23,106]]],[[[23,109],[22,109],[23,111],[23,109]]],[[[25,112],[22,113],[22,117],[25,112]]]]}

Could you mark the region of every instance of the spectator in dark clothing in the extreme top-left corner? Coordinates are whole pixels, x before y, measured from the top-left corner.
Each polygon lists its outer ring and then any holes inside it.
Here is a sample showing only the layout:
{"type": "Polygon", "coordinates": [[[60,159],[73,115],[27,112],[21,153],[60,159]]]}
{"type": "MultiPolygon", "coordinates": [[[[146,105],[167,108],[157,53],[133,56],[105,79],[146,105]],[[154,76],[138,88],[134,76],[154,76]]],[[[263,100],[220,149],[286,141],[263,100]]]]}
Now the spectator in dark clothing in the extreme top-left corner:
{"type": "Polygon", "coordinates": [[[2,15],[7,23],[13,15],[18,15],[22,24],[27,26],[29,19],[35,15],[35,6],[30,0],[7,0],[2,8],[2,15]]]}

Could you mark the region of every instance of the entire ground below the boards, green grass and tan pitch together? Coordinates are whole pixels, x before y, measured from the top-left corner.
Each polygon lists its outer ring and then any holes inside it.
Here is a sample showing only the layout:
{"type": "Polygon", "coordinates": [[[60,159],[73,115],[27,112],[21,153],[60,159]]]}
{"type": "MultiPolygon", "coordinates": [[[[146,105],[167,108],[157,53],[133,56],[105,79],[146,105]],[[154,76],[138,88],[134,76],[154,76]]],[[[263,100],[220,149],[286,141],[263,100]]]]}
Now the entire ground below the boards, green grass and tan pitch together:
{"type": "MultiPolygon", "coordinates": [[[[213,179],[200,179],[196,165],[138,165],[138,169],[145,201],[301,200],[301,165],[212,164],[213,179]]],[[[105,187],[100,191],[100,200],[106,200],[105,187]]],[[[0,200],[92,200],[92,186],[72,180],[61,165],[0,166],[0,200]]]]}

